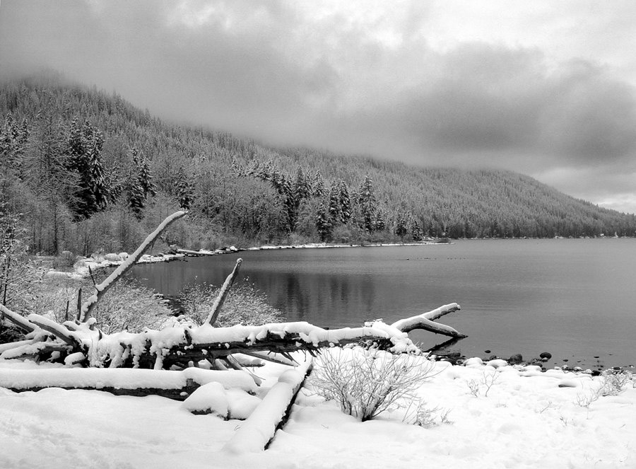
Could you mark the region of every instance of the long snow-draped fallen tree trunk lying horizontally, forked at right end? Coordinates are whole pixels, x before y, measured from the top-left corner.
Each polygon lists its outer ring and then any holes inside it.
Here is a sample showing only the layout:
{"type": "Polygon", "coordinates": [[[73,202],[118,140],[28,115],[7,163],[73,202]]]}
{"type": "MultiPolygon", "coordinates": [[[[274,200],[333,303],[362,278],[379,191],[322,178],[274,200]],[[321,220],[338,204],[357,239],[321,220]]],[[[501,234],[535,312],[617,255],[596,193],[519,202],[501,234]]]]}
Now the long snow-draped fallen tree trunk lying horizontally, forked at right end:
{"type": "MultiPolygon", "coordinates": [[[[117,332],[103,335],[90,330],[89,324],[78,327],[65,323],[54,327],[40,316],[29,318],[45,325],[47,330],[59,337],[59,342],[25,344],[23,347],[7,350],[2,358],[52,359],[65,362],[70,354],[81,352],[86,357],[83,366],[143,369],[184,369],[201,360],[220,366],[227,357],[236,353],[273,352],[285,357],[290,352],[305,351],[316,354],[324,347],[346,344],[366,344],[367,347],[387,349],[391,352],[420,352],[404,330],[415,328],[434,329],[452,337],[465,337],[448,326],[433,323],[430,317],[457,311],[459,305],[451,303],[423,315],[400,320],[393,325],[374,321],[363,328],[343,328],[326,330],[310,323],[272,323],[260,326],[235,325],[230,328],[213,328],[209,324],[196,327],[176,327],[164,330],[146,330],[138,334],[117,332]],[[404,329],[404,330],[403,330],[404,329]],[[448,329],[452,329],[449,331],[448,329]],[[66,340],[64,340],[66,339],[66,340]],[[58,352],[52,354],[51,352],[58,352]]],[[[28,321],[29,324],[33,324],[28,321]]],[[[37,325],[34,325],[38,327],[37,325]]],[[[266,355],[261,355],[266,358],[266,355]]],[[[274,356],[276,357],[276,356],[274,356]]],[[[288,355],[287,355],[288,357],[288,355]]],[[[223,366],[227,368],[227,363],[223,366]]],[[[232,365],[230,365],[232,367],[232,365]]]]}

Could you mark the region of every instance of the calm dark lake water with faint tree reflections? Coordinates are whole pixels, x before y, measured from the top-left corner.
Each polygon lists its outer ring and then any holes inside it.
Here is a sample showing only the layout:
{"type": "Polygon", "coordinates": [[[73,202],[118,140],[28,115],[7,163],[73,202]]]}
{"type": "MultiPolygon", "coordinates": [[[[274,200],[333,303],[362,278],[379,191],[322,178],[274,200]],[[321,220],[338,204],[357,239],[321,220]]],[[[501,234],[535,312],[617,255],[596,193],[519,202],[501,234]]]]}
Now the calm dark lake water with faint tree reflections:
{"type": "MultiPolygon", "coordinates": [[[[440,322],[469,337],[449,350],[526,359],[550,352],[549,365],[636,365],[636,239],[249,251],[140,265],[133,276],[174,295],[190,282],[221,284],[237,257],[242,277],[288,320],[391,323],[457,302],[461,311],[440,322]]],[[[411,337],[423,348],[446,339],[411,337]]]]}

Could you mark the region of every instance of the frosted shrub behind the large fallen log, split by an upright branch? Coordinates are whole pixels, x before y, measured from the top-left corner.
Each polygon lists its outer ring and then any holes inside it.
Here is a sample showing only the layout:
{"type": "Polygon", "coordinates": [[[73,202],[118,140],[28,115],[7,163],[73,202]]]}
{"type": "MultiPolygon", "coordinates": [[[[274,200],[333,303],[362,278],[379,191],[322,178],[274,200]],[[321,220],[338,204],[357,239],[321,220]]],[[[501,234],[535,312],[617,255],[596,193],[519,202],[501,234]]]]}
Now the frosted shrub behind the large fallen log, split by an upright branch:
{"type": "MultiPolygon", "coordinates": [[[[189,286],[179,293],[178,301],[185,315],[201,324],[210,313],[219,290],[220,287],[207,284],[189,286]]],[[[278,323],[281,320],[281,311],[270,306],[265,294],[245,279],[232,286],[214,325],[221,328],[236,324],[278,323]]]]}

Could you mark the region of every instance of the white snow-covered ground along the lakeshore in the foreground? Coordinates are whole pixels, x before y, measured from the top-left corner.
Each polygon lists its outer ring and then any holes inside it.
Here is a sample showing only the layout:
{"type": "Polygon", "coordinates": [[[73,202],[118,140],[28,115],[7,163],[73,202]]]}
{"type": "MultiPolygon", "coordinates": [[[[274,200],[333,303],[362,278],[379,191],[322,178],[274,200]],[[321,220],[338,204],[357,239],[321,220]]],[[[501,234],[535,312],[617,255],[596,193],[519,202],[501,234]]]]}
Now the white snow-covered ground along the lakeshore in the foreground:
{"type": "MultiPolygon", "coordinates": [[[[399,412],[358,422],[301,390],[269,449],[242,454],[224,446],[245,422],[174,400],[0,388],[0,468],[636,468],[633,381],[594,400],[599,377],[471,362],[435,363],[418,391],[428,427],[399,412]]],[[[0,360],[0,374],[35,367],[0,360]]],[[[265,378],[259,398],[285,369],[254,370],[265,378]]]]}

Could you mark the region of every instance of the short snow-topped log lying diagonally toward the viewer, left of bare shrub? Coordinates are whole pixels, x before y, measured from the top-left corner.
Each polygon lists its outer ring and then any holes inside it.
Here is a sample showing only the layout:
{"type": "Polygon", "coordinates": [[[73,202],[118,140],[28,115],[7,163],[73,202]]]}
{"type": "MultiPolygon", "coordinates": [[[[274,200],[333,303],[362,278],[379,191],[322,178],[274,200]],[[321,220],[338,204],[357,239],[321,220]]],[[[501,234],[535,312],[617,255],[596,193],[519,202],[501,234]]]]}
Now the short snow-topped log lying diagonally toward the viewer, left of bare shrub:
{"type": "Polygon", "coordinates": [[[223,450],[233,454],[263,451],[273,439],[310,369],[311,360],[298,369],[283,372],[263,402],[247,417],[232,439],[223,446],[223,450]]]}

